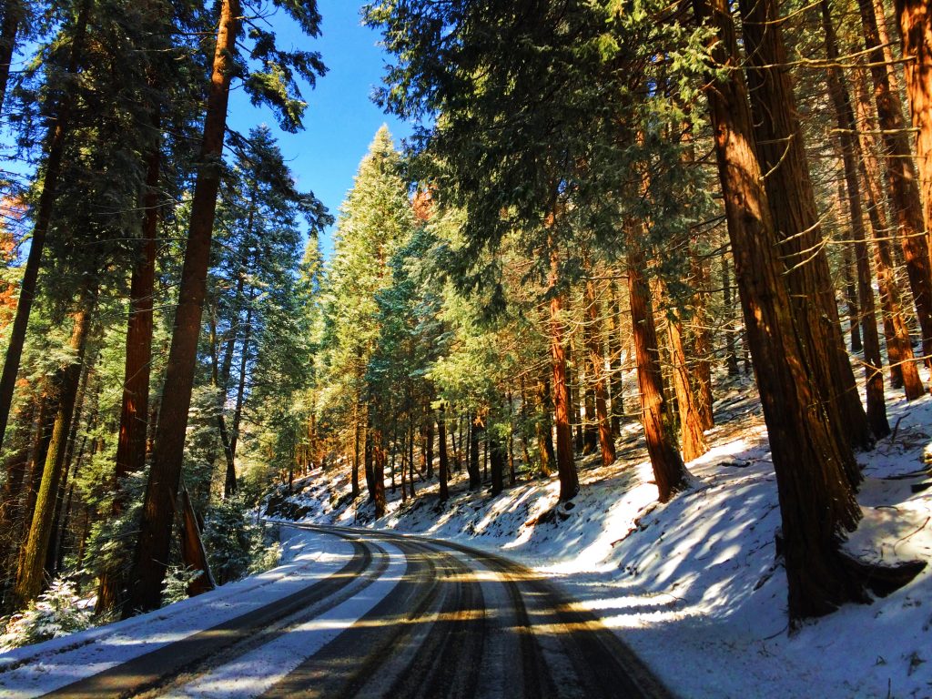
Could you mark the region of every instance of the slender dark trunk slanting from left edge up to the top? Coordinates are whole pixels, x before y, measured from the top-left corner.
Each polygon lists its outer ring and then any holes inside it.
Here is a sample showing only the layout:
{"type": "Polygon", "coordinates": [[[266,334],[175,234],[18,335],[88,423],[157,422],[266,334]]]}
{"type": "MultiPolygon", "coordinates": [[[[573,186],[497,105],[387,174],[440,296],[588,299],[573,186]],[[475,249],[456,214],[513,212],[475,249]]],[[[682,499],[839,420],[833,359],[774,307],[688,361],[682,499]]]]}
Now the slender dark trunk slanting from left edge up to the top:
{"type": "MultiPolygon", "coordinates": [[[[78,9],[77,20],[75,21],[75,35],[72,39],[71,54],[68,58],[69,75],[75,75],[80,65],[81,54],[87,40],[90,9],[91,0],[84,0],[78,9]]],[[[46,244],[48,226],[51,223],[52,208],[55,205],[58,190],[58,181],[62,175],[64,141],[71,128],[73,103],[74,96],[70,90],[66,90],[57,104],[57,109],[53,109],[54,117],[48,127],[48,158],[46,158],[42,176],[42,193],[39,195],[39,201],[35,208],[33,238],[29,243],[29,256],[26,258],[26,267],[22,273],[20,300],[16,305],[16,316],[13,319],[13,327],[10,329],[3,374],[0,376],[0,448],[3,447],[4,435],[7,432],[10,405],[13,403],[13,391],[16,388],[16,375],[20,371],[22,346],[26,340],[29,314],[33,309],[35,284],[39,275],[39,266],[42,262],[42,250],[46,244]]]]}

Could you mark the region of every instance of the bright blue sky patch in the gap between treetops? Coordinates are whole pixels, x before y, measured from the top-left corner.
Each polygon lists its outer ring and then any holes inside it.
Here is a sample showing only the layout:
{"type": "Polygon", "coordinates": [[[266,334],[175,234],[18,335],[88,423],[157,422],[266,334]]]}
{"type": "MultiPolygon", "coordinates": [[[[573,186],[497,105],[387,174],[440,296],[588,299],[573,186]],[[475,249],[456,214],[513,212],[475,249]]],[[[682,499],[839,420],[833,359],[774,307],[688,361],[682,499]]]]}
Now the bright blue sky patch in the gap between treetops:
{"type": "MultiPolygon", "coordinates": [[[[370,99],[388,57],[377,46],[378,33],[362,25],[362,6],[356,0],[318,0],[323,18],[318,39],[301,34],[281,12],[271,20],[282,48],[319,51],[329,69],[315,89],[302,89],[308,103],[305,130],[296,134],[279,130],[271,112],[253,107],[241,89],[230,99],[230,128],[246,133],[257,124],[267,124],[278,137],[298,186],[313,191],[335,216],[378,127],[388,124],[396,145],[411,133],[408,125],[384,114],[370,99]]],[[[331,234],[321,241],[324,254],[332,250],[331,234]]]]}

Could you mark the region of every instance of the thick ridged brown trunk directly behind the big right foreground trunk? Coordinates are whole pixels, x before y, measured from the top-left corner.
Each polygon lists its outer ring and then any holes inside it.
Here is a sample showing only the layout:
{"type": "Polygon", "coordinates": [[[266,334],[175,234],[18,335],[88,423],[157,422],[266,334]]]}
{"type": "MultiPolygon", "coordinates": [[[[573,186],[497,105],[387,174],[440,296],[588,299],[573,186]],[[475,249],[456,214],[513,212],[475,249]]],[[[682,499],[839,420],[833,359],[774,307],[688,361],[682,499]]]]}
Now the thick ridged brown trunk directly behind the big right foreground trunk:
{"type": "Polygon", "coordinates": [[[796,332],[829,412],[829,426],[852,447],[869,447],[870,427],[844,347],[776,4],[740,0],[739,6],[747,60],[753,66],[747,82],[756,150],[761,170],[767,172],[764,185],[780,238],[779,254],[788,269],[796,332]]]}

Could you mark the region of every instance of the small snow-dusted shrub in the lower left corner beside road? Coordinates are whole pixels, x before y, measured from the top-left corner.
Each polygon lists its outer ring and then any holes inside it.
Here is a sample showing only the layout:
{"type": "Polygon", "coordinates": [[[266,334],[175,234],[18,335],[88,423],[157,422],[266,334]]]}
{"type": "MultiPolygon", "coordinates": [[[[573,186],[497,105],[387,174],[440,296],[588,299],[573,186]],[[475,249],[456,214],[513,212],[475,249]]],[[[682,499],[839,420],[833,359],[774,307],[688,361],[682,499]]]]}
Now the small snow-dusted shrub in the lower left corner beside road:
{"type": "Polygon", "coordinates": [[[9,618],[0,650],[83,631],[93,623],[93,605],[78,596],[75,583],[57,579],[26,610],[9,618]]]}

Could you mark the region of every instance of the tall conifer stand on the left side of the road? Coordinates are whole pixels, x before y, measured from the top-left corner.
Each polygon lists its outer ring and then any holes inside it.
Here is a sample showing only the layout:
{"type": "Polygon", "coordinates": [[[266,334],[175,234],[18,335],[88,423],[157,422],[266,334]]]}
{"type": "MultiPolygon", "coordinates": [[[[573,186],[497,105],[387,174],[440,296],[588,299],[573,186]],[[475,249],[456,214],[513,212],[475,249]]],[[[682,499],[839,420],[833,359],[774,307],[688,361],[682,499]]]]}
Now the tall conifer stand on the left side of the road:
{"type": "Polygon", "coordinates": [[[313,2],[4,5],[7,612],[65,574],[129,616],[170,566],[199,592],[262,556],[247,508],[302,430],[331,220],[267,127],[226,125],[239,87],[302,128],[325,68],[277,44],[275,11],[319,34],[313,2]]]}

